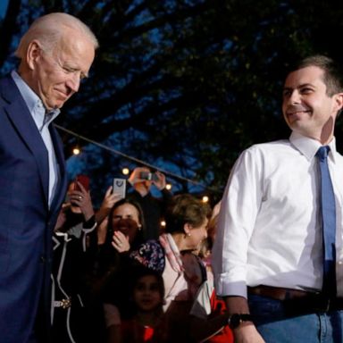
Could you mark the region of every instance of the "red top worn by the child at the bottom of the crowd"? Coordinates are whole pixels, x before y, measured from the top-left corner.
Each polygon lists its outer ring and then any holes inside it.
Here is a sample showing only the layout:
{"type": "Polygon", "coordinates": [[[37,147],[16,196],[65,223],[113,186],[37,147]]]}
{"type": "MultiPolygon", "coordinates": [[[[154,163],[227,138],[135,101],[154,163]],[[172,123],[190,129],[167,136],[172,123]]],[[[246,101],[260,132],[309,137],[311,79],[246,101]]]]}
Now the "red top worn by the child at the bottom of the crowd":
{"type": "Polygon", "coordinates": [[[130,319],[121,322],[123,343],[163,343],[167,341],[166,322],[160,320],[155,327],[145,326],[130,319]]]}

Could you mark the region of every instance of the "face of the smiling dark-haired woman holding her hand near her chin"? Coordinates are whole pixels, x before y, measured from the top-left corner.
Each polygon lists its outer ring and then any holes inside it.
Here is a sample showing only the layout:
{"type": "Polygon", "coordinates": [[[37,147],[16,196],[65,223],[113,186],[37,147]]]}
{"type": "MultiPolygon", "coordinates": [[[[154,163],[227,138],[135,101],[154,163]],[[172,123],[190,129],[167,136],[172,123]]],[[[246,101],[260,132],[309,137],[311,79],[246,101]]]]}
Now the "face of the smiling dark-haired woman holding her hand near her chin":
{"type": "Polygon", "coordinates": [[[113,211],[113,230],[121,231],[132,243],[141,226],[138,209],[131,204],[122,204],[113,211]]]}

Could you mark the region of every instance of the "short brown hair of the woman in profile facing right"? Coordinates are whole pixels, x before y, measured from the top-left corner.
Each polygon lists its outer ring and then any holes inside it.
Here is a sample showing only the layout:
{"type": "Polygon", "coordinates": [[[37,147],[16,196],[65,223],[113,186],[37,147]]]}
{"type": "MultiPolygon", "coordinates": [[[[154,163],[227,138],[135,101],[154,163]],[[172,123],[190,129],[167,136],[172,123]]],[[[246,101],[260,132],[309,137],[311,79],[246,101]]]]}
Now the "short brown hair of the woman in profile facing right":
{"type": "Polygon", "coordinates": [[[210,206],[197,197],[190,194],[172,197],[165,214],[165,231],[168,233],[183,232],[186,223],[198,228],[206,218],[209,218],[210,214],[210,206]]]}

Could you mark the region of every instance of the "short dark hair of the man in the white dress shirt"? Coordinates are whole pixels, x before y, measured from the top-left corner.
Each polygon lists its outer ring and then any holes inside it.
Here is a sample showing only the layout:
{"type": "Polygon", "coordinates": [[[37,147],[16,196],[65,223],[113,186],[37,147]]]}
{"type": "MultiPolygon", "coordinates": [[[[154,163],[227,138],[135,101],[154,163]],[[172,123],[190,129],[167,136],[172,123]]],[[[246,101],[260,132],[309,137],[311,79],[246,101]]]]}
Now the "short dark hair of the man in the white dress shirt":
{"type": "Polygon", "coordinates": [[[314,54],[312,56],[305,57],[295,63],[289,72],[312,66],[322,69],[322,81],[326,85],[327,96],[333,96],[343,91],[342,68],[330,57],[322,54],[314,54]]]}

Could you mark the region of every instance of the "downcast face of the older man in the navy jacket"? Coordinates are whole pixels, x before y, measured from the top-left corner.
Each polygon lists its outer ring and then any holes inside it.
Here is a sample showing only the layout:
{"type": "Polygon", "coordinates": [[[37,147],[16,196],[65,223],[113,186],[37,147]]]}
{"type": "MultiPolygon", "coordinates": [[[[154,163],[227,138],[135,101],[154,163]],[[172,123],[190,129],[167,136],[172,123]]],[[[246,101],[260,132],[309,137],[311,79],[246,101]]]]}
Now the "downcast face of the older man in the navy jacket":
{"type": "Polygon", "coordinates": [[[73,29],[66,30],[52,52],[45,52],[34,40],[28,50],[29,87],[46,109],[61,108],[88,76],[94,56],[93,43],[73,29]]]}

